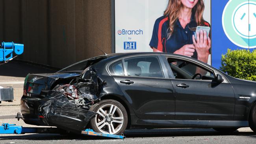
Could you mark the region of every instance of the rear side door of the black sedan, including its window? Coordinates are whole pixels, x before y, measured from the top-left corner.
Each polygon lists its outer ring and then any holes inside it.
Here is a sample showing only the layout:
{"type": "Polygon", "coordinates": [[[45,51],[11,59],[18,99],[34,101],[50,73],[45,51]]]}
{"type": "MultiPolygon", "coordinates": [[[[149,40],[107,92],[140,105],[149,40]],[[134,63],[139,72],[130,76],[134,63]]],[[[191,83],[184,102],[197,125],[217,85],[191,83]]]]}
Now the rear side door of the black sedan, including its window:
{"type": "Polygon", "coordinates": [[[115,63],[109,66],[110,72],[111,69],[114,69],[113,72],[117,71],[116,69],[121,70],[121,74],[114,72],[112,76],[138,118],[174,120],[173,85],[160,61],[163,63],[163,60],[155,55],[135,56],[122,59],[122,65],[117,61],[119,68],[115,63]]]}

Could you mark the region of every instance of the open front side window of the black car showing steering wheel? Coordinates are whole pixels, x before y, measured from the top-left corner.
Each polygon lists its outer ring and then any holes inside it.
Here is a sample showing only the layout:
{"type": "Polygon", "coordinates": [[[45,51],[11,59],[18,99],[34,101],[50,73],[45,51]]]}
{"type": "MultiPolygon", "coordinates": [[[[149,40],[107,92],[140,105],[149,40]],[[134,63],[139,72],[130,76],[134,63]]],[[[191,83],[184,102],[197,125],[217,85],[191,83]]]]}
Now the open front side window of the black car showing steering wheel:
{"type": "Polygon", "coordinates": [[[213,71],[205,69],[195,63],[181,59],[167,58],[168,63],[176,79],[214,79],[213,71]]]}

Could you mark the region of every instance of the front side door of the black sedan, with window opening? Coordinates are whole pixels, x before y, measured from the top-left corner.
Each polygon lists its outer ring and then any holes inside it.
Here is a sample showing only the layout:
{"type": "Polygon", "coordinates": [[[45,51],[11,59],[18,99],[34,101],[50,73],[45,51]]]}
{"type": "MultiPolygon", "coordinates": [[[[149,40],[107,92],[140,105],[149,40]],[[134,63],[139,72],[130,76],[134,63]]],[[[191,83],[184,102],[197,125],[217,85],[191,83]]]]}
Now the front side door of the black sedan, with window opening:
{"type": "Polygon", "coordinates": [[[193,61],[167,57],[174,74],[176,120],[233,120],[235,97],[227,81],[215,82],[214,71],[193,61]],[[200,73],[202,79],[195,77],[200,73]]]}

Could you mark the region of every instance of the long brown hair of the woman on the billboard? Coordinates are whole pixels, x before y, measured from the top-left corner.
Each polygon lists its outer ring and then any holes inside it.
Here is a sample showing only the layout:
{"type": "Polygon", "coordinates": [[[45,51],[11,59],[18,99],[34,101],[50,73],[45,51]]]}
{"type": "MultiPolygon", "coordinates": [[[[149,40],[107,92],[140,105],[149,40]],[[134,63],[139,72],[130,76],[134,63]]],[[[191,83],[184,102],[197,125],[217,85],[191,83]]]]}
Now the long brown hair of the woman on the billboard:
{"type": "MultiPolygon", "coordinates": [[[[167,8],[164,11],[164,15],[169,19],[169,33],[167,34],[168,39],[171,37],[174,31],[176,20],[180,14],[180,7],[182,7],[181,0],[169,0],[167,8]]],[[[192,14],[195,14],[195,21],[197,26],[204,26],[204,0],[198,0],[197,4],[192,9],[192,14]]],[[[195,30],[195,28],[190,28],[195,30]]]]}

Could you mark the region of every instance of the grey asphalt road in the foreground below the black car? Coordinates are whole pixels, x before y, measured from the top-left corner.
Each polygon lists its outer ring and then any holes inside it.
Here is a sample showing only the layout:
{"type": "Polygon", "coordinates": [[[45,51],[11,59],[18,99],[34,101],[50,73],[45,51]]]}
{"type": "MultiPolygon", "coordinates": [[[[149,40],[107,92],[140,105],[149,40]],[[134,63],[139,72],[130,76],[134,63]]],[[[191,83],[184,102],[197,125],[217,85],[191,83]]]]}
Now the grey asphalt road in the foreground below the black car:
{"type": "Polygon", "coordinates": [[[132,130],[124,133],[125,139],[98,138],[89,136],[67,136],[56,134],[32,134],[0,136],[0,144],[33,144],[33,143],[69,143],[69,144],[256,144],[256,135],[252,132],[234,132],[221,134],[213,129],[154,129],[132,130]]]}

